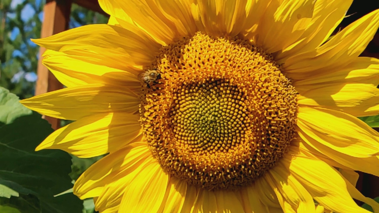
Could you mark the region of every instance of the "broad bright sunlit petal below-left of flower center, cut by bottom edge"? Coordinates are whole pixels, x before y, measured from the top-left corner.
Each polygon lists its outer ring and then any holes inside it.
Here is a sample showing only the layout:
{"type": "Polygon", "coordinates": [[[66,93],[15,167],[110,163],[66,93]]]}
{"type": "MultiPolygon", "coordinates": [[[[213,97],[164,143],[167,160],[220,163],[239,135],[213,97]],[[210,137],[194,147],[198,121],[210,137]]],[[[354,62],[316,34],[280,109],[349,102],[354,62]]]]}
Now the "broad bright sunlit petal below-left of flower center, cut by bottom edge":
{"type": "Polygon", "coordinates": [[[136,177],[125,186],[119,212],[158,212],[169,182],[169,175],[158,161],[146,164],[136,177]]]}

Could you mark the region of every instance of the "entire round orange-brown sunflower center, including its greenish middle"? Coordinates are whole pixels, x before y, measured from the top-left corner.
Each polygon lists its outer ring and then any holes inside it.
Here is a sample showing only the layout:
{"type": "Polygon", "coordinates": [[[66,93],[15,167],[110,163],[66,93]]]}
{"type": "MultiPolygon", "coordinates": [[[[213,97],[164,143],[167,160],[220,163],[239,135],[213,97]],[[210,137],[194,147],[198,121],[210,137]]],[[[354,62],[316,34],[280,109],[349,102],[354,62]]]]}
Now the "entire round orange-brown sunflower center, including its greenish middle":
{"type": "Polygon", "coordinates": [[[294,138],[297,91],[249,41],[196,33],[162,47],[149,68],[160,79],[143,83],[144,136],[163,168],[189,184],[247,185],[294,138]]]}

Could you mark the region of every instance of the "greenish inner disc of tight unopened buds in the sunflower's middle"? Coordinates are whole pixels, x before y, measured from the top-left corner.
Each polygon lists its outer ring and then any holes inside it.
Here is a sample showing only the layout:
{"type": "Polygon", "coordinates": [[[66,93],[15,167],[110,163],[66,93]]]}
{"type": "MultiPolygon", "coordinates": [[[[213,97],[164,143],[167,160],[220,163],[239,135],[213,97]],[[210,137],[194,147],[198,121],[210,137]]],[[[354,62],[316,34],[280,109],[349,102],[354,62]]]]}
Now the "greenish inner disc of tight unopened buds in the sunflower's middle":
{"type": "Polygon", "coordinates": [[[176,141],[198,154],[227,153],[242,141],[246,96],[229,80],[211,79],[183,85],[169,113],[176,141]]]}

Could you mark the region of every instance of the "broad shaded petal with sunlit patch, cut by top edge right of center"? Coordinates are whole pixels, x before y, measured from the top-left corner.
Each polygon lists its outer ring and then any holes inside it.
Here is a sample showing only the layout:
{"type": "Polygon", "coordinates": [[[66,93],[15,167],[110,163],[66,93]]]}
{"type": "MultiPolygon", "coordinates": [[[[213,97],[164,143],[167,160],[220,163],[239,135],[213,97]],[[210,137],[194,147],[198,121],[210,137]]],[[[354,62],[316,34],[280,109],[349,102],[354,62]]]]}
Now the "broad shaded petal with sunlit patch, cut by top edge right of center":
{"type": "Polygon", "coordinates": [[[312,20],[314,0],[273,0],[258,25],[257,43],[273,53],[295,42],[312,20]]]}

